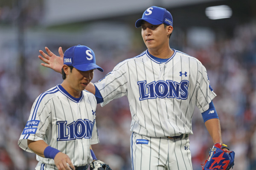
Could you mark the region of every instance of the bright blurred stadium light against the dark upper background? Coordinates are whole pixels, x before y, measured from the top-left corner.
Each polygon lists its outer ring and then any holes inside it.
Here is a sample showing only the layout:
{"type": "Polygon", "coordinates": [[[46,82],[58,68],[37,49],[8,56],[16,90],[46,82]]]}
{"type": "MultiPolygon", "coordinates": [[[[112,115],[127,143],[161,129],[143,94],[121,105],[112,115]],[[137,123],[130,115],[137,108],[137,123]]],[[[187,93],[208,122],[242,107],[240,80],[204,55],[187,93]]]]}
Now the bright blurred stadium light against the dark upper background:
{"type": "Polygon", "coordinates": [[[227,5],[210,6],[205,9],[205,14],[211,20],[230,18],[232,16],[232,9],[227,5]]]}

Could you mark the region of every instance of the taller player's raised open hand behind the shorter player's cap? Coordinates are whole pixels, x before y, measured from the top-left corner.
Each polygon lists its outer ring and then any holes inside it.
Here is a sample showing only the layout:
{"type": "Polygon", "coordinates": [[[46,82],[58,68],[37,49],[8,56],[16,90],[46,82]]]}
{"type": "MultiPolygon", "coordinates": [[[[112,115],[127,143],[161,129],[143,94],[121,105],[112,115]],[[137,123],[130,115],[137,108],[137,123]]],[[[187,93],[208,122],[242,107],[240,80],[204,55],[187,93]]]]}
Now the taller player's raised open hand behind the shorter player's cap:
{"type": "Polygon", "coordinates": [[[41,63],[44,67],[52,68],[52,70],[61,73],[61,68],[63,66],[63,51],[62,48],[60,47],[58,49],[58,53],[60,57],[56,56],[55,54],[52,53],[52,51],[49,50],[49,48],[45,47],[45,50],[47,51],[48,55],[44,53],[44,51],[39,50],[41,55],[43,56],[38,56],[39,59],[41,59],[45,63],[41,63]]]}

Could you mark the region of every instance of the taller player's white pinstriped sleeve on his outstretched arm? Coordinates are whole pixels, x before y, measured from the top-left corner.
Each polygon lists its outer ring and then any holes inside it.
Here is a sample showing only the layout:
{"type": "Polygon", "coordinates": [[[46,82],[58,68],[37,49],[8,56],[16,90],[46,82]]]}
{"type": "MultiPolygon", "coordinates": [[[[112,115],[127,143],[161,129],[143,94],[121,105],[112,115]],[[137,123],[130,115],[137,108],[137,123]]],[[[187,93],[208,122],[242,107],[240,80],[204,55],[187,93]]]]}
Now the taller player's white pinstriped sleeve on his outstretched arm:
{"type": "Polygon", "coordinates": [[[111,100],[127,95],[127,62],[121,62],[108,73],[103,79],[95,83],[103,97],[101,106],[108,104],[111,100]]]}

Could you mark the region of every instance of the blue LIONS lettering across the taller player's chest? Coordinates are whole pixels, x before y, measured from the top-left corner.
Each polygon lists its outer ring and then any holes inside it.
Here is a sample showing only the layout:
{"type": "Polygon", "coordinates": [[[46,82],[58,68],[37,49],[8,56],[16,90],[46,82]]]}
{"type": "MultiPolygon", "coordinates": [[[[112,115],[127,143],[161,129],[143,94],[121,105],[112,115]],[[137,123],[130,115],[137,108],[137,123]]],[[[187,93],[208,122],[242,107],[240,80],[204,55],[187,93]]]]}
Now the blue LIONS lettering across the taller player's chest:
{"type": "Polygon", "coordinates": [[[159,80],[147,84],[147,81],[138,82],[140,100],[159,98],[187,99],[189,81],[183,80],[180,83],[172,80],[159,80]]]}

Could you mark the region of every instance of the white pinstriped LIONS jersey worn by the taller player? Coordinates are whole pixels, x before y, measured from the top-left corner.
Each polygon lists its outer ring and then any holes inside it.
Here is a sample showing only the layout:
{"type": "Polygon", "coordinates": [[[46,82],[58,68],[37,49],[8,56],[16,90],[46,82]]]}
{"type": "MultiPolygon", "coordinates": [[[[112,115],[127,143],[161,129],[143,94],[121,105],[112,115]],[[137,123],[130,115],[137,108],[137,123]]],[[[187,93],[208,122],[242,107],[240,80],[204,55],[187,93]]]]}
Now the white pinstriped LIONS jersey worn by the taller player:
{"type": "Polygon", "coordinates": [[[152,137],[192,134],[195,105],[207,111],[216,96],[201,62],[176,50],[166,62],[144,51],[120,62],[95,85],[104,99],[102,106],[127,96],[131,131],[152,137]]]}

